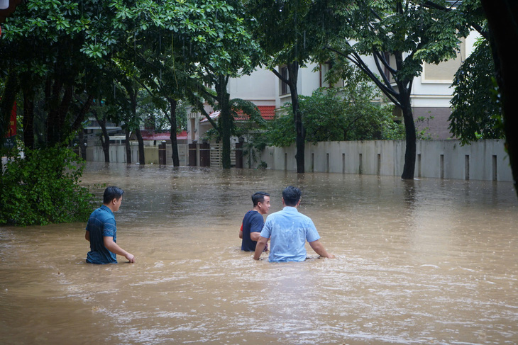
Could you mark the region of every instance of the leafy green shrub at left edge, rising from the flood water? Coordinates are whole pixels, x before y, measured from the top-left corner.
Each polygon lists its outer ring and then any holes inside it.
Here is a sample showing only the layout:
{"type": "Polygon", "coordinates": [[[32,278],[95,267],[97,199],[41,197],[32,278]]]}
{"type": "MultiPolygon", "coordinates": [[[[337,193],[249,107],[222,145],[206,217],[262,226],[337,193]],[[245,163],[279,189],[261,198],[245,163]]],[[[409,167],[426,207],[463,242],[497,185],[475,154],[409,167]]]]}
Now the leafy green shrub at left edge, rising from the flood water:
{"type": "Polygon", "coordinates": [[[85,221],[94,208],[79,186],[84,162],[65,147],[25,150],[0,175],[0,225],[46,225],[85,221]]]}

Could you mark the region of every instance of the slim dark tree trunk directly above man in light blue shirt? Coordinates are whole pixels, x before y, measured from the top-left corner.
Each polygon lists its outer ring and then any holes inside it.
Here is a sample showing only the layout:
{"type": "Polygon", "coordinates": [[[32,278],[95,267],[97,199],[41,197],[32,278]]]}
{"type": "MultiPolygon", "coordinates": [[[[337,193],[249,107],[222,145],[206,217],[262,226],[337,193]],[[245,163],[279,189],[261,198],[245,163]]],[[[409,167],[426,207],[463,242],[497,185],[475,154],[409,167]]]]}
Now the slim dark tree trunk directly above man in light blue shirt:
{"type": "Polygon", "coordinates": [[[288,86],[290,86],[290,94],[292,96],[293,120],[295,124],[295,132],[297,133],[296,145],[297,154],[295,160],[297,161],[297,173],[304,173],[304,151],[306,145],[306,132],[302,124],[302,112],[299,108],[299,93],[297,91],[297,79],[299,75],[299,63],[292,62],[287,64],[288,68],[288,86]]]}

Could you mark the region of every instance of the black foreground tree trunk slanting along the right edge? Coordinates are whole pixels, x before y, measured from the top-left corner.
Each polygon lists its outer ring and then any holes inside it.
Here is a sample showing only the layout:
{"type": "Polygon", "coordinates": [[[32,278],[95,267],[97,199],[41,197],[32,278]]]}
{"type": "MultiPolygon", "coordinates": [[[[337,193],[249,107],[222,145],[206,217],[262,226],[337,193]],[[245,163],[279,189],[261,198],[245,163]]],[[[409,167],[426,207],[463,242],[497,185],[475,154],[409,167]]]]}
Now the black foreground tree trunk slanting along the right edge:
{"type": "Polygon", "coordinates": [[[512,42],[518,41],[518,7],[514,0],[481,0],[490,30],[490,43],[495,60],[495,77],[502,96],[504,132],[511,164],[514,191],[518,196],[518,117],[514,98],[518,94],[518,65],[512,42]]]}

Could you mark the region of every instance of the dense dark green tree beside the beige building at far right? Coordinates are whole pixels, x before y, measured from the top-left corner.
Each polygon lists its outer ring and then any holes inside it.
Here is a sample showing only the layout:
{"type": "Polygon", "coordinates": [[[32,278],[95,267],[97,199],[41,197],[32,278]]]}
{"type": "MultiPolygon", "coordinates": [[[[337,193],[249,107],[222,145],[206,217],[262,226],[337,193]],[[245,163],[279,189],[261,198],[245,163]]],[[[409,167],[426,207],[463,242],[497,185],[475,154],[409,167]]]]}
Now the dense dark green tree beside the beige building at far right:
{"type": "Polygon", "coordinates": [[[489,42],[478,40],[453,79],[450,130],[463,145],[503,137],[502,108],[498,101],[489,42]]]}

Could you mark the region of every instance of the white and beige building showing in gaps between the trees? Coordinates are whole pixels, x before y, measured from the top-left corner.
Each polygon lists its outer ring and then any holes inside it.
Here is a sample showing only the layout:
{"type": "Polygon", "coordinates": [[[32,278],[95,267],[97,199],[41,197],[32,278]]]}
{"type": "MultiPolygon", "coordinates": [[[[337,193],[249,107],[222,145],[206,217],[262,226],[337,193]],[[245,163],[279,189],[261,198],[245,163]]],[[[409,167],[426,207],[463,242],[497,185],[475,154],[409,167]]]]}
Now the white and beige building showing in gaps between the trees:
{"type": "MultiPolygon", "coordinates": [[[[448,118],[451,114],[450,100],[453,94],[451,84],[463,60],[473,51],[473,45],[477,37],[478,35],[473,33],[462,41],[456,59],[441,62],[441,64],[425,63],[421,75],[414,79],[411,95],[414,120],[424,118],[416,125],[419,130],[427,128],[426,134],[430,135],[431,139],[451,138],[448,129],[448,118]]],[[[372,58],[366,58],[365,60],[371,69],[377,70],[372,58]]],[[[285,67],[281,66],[278,69],[281,74],[283,68],[285,67]]],[[[325,81],[328,71],[329,65],[314,63],[307,64],[307,67],[299,69],[297,80],[299,94],[311,96],[315,89],[329,86],[325,81]]],[[[275,109],[278,109],[291,101],[289,89],[283,86],[282,81],[275,74],[263,68],[255,70],[250,75],[231,79],[228,82],[228,93],[231,98],[251,101],[260,109],[264,106],[274,106],[275,109]]],[[[208,112],[210,112],[210,109],[208,112]]],[[[261,113],[263,113],[263,110],[261,110],[261,113]]],[[[214,115],[214,113],[211,114],[214,115]]],[[[399,114],[396,113],[395,115],[399,114]]],[[[201,113],[190,113],[188,118],[188,141],[197,140],[199,142],[203,139],[206,130],[210,128],[210,123],[201,113]]],[[[236,140],[237,138],[234,138],[234,141],[236,140]]]]}

